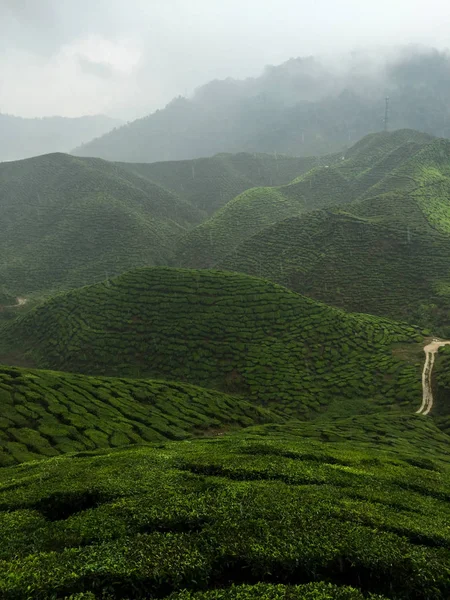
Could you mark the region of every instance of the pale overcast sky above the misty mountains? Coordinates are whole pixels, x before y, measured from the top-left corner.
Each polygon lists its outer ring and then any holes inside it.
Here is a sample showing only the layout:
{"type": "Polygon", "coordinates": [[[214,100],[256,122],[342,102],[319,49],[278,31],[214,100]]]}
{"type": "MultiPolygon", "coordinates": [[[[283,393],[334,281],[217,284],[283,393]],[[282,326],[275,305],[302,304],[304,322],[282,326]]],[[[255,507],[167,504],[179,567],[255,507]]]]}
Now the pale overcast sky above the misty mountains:
{"type": "Polygon", "coordinates": [[[450,47],[449,0],[0,0],[0,112],[132,119],[290,57],[450,47]]]}

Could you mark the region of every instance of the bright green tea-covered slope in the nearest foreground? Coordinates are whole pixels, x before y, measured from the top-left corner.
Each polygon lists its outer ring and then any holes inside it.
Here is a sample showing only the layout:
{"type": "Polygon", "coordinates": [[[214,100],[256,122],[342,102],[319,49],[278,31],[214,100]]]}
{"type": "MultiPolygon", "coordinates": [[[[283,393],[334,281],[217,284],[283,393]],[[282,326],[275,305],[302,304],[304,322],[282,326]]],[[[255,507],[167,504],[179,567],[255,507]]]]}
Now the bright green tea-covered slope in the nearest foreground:
{"type": "Polygon", "coordinates": [[[449,438],[384,425],[402,447],[290,425],[0,469],[0,594],[444,600],[449,438]]]}

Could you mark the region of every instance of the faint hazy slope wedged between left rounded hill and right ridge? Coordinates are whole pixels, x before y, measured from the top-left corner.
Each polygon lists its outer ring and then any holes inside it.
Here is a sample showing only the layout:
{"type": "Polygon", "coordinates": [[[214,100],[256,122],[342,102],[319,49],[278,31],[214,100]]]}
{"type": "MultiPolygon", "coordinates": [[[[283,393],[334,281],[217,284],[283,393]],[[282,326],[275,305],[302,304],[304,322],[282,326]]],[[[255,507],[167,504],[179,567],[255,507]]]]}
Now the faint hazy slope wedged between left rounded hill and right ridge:
{"type": "MultiPolygon", "coordinates": [[[[287,184],[320,164],[320,158],[269,154],[218,154],[211,158],[120,166],[171,190],[212,215],[252,187],[287,184]]],[[[333,164],[338,156],[326,158],[333,164]]]]}

